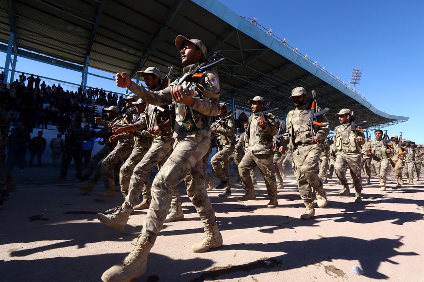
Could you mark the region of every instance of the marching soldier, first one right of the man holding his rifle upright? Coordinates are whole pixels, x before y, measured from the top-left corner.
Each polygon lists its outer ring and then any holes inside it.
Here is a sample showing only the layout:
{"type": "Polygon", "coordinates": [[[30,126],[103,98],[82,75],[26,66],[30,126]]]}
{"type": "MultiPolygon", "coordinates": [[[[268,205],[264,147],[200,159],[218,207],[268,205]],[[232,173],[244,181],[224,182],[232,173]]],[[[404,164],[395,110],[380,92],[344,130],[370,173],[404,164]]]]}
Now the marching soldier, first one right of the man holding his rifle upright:
{"type": "Polygon", "coordinates": [[[343,186],[339,195],[349,196],[350,193],[345,175],[345,166],[347,166],[356,191],[355,202],[361,203],[361,149],[362,145],[365,143],[365,136],[362,131],[351,127],[351,110],[341,109],[336,116],[339,118],[340,125],[336,126],[334,129],[334,148],[337,156],[334,170],[343,186]]]}

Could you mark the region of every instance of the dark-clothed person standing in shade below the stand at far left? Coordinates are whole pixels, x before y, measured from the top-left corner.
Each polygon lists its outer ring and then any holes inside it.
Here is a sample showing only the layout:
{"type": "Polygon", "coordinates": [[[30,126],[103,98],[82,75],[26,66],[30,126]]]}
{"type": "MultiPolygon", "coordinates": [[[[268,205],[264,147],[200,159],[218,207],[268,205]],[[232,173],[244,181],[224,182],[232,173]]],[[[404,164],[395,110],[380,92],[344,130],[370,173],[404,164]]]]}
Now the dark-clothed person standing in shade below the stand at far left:
{"type": "Polygon", "coordinates": [[[9,155],[7,156],[7,166],[12,171],[15,163],[19,166],[21,172],[25,168],[25,156],[28,145],[31,142],[29,131],[25,128],[24,123],[17,122],[17,127],[12,128],[9,135],[9,155]]]}

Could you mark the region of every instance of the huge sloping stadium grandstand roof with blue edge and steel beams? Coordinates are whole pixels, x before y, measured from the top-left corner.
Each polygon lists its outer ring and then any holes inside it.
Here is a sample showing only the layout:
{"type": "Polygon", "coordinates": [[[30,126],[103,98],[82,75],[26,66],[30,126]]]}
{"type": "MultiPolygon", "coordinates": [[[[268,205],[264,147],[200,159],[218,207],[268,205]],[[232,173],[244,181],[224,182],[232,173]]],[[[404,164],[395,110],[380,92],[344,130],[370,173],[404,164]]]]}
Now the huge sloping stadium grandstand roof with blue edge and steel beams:
{"type": "Polygon", "coordinates": [[[78,71],[88,63],[110,73],[134,75],[155,66],[166,74],[173,65],[177,76],[182,70],[174,45],[178,34],[202,39],[209,53],[220,50],[226,58],[219,66],[222,101],[249,107],[247,100],[261,95],[283,117],[293,109],[289,93],[303,86],[317,90],[318,105],[331,109],[327,117],[333,128],[339,124],[334,114],[342,108],[354,110],[368,129],[408,120],[377,110],[284,40],[217,0],[0,1],[5,44],[0,49],[12,43],[12,54],[78,71]]]}

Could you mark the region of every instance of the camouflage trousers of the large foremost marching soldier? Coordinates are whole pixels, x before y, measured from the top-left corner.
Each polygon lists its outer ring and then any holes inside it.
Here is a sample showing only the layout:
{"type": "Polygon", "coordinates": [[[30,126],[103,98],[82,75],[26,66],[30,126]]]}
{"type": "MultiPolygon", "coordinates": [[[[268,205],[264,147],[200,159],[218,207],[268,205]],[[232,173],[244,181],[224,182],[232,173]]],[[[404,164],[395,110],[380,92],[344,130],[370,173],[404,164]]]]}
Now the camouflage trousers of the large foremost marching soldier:
{"type": "Polygon", "coordinates": [[[152,201],[141,231],[148,242],[155,242],[170,209],[172,191],[183,180],[203,224],[215,224],[215,211],[204,187],[202,170],[202,157],[209,145],[209,135],[192,134],[175,140],[174,150],[153,180],[152,201]]]}

